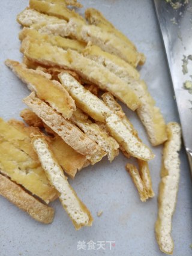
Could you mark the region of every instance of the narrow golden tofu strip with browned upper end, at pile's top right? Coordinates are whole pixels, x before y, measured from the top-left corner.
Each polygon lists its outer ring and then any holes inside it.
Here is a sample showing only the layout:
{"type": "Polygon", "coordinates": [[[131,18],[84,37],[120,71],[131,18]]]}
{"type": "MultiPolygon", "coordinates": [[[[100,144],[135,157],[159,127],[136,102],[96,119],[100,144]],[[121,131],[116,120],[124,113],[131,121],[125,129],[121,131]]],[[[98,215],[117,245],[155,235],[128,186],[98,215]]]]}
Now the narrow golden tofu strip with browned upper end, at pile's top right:
{"type": "Polygon", "coordinates": [[[85,18],[88,20],[89,24],[100,27],[103,30],[115,34],[116,37],[121,38],[131,49],[136,50],[133,42],[131,42],[121,31],[115,28],[112,23],[107,20],[100,11],[94,8],[88,8],[85,10],[85,18]]]}

